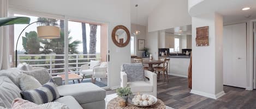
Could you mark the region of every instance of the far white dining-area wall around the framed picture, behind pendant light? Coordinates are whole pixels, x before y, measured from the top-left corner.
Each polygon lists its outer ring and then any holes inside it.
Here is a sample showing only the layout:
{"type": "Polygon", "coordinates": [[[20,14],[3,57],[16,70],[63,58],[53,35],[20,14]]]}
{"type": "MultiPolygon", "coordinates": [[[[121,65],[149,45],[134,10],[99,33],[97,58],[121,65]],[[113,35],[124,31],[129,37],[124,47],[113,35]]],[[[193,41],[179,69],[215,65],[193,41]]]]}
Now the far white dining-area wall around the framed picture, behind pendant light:
{"type": "MultiPolygon", "coordinates": [[[[144,25],[138,25],[138,24],[131,24],[130,25],[130,35],[135,36],[135,52],[137,56],[142,56],[142,53],[144,53],[144,50],[138,50],[138,39],[145,40],[146,39],[146,26],[144,25]],[[133,32],[138,29],[140,30],[140,35],[133,35],[133,32]]],[[[146,44],[145,44],[146,46],[146,44]]]]}

